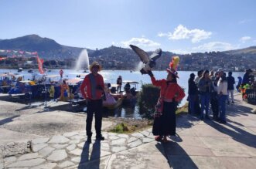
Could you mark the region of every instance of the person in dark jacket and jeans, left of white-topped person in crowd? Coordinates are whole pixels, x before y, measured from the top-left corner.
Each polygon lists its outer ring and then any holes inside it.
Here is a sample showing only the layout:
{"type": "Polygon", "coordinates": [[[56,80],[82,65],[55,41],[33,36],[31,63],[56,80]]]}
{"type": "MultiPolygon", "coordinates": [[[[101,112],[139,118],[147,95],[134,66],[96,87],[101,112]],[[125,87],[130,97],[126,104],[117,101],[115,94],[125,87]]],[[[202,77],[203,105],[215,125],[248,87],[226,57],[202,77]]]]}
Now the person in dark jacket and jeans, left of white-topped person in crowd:
{"type": "Polygon", "coordinates": [[[203,112],[205,110],[205,118],[210,120],[209,117],[209,103],[210,103],[210,93],[213,90],[213,84],[210,80],[209,70],[203,72],[203,76],[198,82],[198,89],[200,91],[200,101],[201,101],[201,113],[200,119],[203,120],[203,112]]]}

